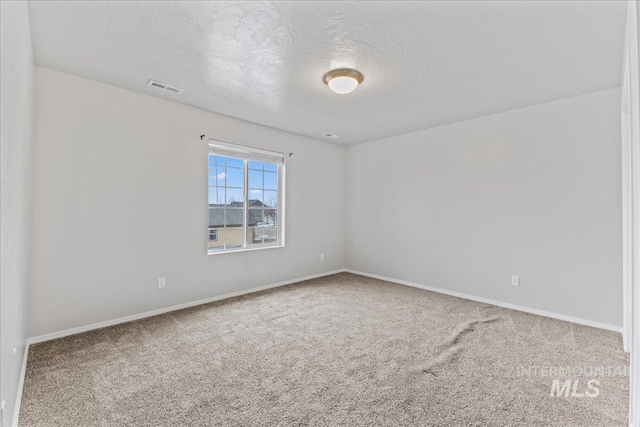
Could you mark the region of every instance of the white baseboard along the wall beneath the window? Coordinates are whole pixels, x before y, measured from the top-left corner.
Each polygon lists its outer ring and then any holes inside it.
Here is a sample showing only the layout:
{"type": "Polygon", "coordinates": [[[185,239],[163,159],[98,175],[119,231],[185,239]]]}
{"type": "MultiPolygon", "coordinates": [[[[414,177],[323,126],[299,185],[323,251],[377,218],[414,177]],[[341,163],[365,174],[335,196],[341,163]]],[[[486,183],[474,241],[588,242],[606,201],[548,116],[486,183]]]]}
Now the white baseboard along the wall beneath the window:
{"type": "Polygon", "coordinates": [[[242,291],[231,292],[229,294],[218,295],[218,296],[215,296],[215,297],[205,298],[205,299],[192,301],[192,302],[187,302],[187,303],[184,303],[184,304],[172,305],[170,307],[165,307],[165,308],[159,308],[157,310],[146,311],[144,313],[132,314],[130,316],[119,317],[117,319],[105,320],[104,322],[92,323],[90,325],[79,326],[77,328],[66,329],[64,331],[52,332],[50,334],[44,334],[44,335],[39,335],[39,336],[36,336],[36,337],[31,337],[31,338],[29,338],[27,340],[27,343],[28,344],[37,344],[37,343],[41,343],[41,342],[45,342],[45,341],[51,341],[51,340],[55,340],[57,338],[66,337],[66,336],[69,336],[69,335],[76,335],[76,334],[80,334],[82,332],[92,331],[94,329],[106,328],[107,326],[118,325],[120,323],[127,323],[127,322],[131,322],[133,320],[138,320],[138,319],[144,319],[146,317],[157,316],[159,314],[169,313],[171,311],[182,310],[183,308],[189,308],[189,307],[194,307],[196,305],[207,304],[207,303],[210,303],[210,302],[220,301],[220,300],[227,299],[227,298],[238,297],[238,296],[241,296],[241,295],[246,295],[246,294],[251,294],[251,293],[254,293],[254,292],[264,291],[264,290],[267,290],[267,289],[277,288],[279,286],[285,286],[285,285],[290,285],[292,283],[302,282],[302,281],[305,281],[305,280],[317,279],[319,277],[330,276],[332,274],[343,273],[344,271],[345,271],[344,269],[334,270],[334,271],[327,271],[325,273],[313,274],[311,276],[305,276],[305,277],[299,277],[297,279],[285,280],[283,282],[272,283],[270,285],[258,286],[257,288],[245,289],[245,290],[242,290],[242,291]]]}

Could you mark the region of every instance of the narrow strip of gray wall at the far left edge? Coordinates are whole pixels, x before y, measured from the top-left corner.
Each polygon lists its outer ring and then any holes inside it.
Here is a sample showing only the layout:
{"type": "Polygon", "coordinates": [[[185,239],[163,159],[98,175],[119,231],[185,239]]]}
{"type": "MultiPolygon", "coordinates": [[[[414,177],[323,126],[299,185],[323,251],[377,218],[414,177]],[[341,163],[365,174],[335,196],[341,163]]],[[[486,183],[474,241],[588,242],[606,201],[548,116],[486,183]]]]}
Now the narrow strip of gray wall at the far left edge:
{"type": "Polygon", "coordinates": [[[34,67],[26,2],[0,2],[0,16],[0,400],[11,425],[27,339],[34,67]]]}

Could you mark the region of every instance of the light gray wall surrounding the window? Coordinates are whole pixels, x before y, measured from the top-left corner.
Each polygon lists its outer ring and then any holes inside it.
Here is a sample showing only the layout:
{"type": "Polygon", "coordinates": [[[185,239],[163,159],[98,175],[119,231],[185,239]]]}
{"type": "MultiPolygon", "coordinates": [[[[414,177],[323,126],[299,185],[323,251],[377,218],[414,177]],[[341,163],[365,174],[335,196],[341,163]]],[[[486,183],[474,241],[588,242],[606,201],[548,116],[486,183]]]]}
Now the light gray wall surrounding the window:
{"type": "Polygon", "coordinates": [[[344,160],[337,145],[36,67],[30,336],[344,268],[344,160]],[[294,153],[285,248],[207,255],[200,134],[294,153]]]}

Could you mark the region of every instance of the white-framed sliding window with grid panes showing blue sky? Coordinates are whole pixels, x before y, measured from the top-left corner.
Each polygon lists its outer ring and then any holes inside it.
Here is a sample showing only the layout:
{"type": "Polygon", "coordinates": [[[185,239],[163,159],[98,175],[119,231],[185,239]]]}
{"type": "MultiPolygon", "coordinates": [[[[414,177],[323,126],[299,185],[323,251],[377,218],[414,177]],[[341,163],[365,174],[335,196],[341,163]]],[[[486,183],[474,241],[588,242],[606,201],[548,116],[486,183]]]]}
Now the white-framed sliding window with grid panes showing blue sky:
{"type": "Polygon", "coordinates": [[[209,145],[208,253],[284,245],[284,156],[209,145]]]}

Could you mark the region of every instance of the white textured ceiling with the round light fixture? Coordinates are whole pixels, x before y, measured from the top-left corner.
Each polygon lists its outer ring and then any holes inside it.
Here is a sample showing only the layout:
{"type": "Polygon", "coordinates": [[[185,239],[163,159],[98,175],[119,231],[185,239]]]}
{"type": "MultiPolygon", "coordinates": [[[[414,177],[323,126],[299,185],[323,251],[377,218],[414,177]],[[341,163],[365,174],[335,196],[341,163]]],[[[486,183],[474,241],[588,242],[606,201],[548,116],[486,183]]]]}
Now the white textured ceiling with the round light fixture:
{"type": "Polygon", "coordinates": [[[45,1],[30,16],[38,65],[350,145],[619,86],[626,7],[45,1]],[[364,74],[350,95],[322,82],[339,67],[364,74]]]}

